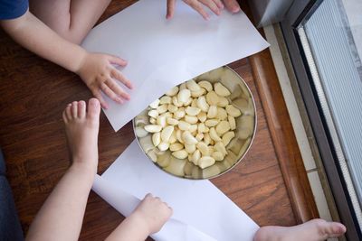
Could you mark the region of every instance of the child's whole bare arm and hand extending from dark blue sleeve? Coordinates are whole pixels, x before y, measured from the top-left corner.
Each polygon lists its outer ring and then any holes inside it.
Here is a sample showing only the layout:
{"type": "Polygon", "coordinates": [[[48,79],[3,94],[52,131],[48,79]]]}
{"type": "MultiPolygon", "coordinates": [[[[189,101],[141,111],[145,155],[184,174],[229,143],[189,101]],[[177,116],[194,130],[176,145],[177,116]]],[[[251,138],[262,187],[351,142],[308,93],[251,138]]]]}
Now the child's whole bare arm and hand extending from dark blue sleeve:
{"type": "Polygon", "coordinates": [[[125,66],[127,64],[125,60],[85,51],[81,46],[68,42],[53,32],[29,10],[16,19],[2,20],[0,24],[5,32],[24,48],[80,75],[93,95],[100,99],[103,107],[108,105],[101,97],[100,90],[119,103],[123,103],[122,98],[129,99],[129,94],[114,80],[119,79],[127,88],[132,88],[129,79],[112,66],[112,64],[125,66]]]}

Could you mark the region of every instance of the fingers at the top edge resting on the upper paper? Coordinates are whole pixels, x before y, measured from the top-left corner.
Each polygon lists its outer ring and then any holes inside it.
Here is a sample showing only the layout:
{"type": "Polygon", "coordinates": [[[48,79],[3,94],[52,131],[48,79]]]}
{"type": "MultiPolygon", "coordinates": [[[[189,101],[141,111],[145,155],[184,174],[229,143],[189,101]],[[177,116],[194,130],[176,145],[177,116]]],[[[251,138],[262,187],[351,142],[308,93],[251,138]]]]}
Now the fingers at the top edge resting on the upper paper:
{"type": "MultiPolygon", "coordinates": [[[[220,15],[224,7],[231,13],[235,14],[240,11],[240,5],[236,0],[183,0],[186,5],[191,6],[195,11],[203,16],[205,20],[209,19],[205,7],[209,8],[214,14],[220,15]]],[[[175,13],[176,0],[167,0],[167,15],[170,19],[175,13]]]]}

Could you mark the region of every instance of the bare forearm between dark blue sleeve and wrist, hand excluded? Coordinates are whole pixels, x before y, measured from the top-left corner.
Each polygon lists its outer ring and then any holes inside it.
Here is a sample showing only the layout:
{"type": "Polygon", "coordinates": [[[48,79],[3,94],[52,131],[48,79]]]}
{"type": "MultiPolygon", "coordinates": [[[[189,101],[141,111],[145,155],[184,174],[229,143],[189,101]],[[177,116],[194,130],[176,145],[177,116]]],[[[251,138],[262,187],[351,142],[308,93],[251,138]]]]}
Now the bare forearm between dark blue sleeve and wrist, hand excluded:
{"type": "Polygon", "coordinates": [[[81,46],[64,40],[29,11],[17,19],[3,20],[1,25],[24,48],[72,72],[79,70],[87,53],[81,46]]]}

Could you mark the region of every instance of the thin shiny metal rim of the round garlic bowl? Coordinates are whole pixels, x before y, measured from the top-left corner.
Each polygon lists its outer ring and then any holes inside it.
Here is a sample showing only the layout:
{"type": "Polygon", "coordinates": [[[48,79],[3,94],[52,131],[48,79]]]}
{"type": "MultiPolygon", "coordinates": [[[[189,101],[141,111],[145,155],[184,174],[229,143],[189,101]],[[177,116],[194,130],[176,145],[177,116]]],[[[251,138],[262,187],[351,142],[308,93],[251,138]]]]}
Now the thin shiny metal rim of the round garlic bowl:
{"type": "MultiPolygon", "coordinates": [[[[253,95],[252,95],[252,90],[251,90],[251,89],[249,88],[249,86],[246,84],[246,81],[245,81],[235,70],[233,70],[232,68],[230,68],[229,66],[226,66],[226,65],[221,66],[221,67],[219,67],[219,68],[216,68],[216,69],[214,69],[214,70],[217,70],[217,69],[220,69],[220,68],[227,68],[227,69],[229,69],[229,70],[232,70],[233,73],[243,82],[243,84],[244,84],[245,87],[248,89],[249,93],[251,94],[250,96],[252,97],[252,106],[254,107],[254,120],[255,120],[255,121],[254,121],[254,129],[253,129],[253,132],[252,132],[252,140],[250,141],[250,144],[249,144],[248,148],[246,148],[246,150],[245,150],[245,152],[243,153],[243,155],[239,158],[239,160],[238,160],[237,162],[235,162],[235,163],[233,164],[233,166],[231,166],[230,168],[228,168],[227,170],[225,170],[225,171],[223,171],[223,172],[220,172],[220,173],[217,174],[217,175],[214,175],[214,176],[208,177],[208,178],[198,178],[198,179],[186,178],[185,176],[184,176],[184,177],[180,177],[180,176],[177,176],[177,175],[175,175],[175,174],[173,174],[173,173],[170,173],[170,172],[168,172],[168,171],[165,171],[162,167],[160,167],[159,165],[157,165],[156,162],[153,162],[153,161],[149,158],[148,154],[143,150],[141,144],[139,144],[138,136],[137,136],[137,134],[136,134],[136,125],[135,125],[136,123],[135,123],[135,119],[136,119],[137,116],[135,116],[135,117],[132,118],[132,129],[133,129],[133,134],[135,134],[135,139],[137,140],[138,146],[139,146],[139,148],[141,149],[142,153],[148,158],[149,162],[152,162],[152,163],[153,163],[155,166],[157,166],[157,168],[160,169],[161,171],[164,171],[164,172],[166,172],[167,174],[169,174],[169,175],[171,175],[171,176],[173,176],[173,177],[176,177],[176,178],[179,178],[179,179],[183,179],[183,180],[190,180],[190,181],[211,180],[211,179],[220,177],[221,175],[224,175],[226,172],[229,172],[229,171],[233,170],[233,168],[234,168],[236,165],[238,165],[240,162],[242,162],[243,158],[245,157],[245,155],[249,152],[250,148],[252,147],[252,143],[253,143],[253,141],[254,141],[254,139],[255,139],[255,135],[256,135],[256,131],[257,131],[256,128],[257,128],[257,123],[258,123],[258,121],[257,121],[257,120],[258,120],[258,115],[257,115],[257,111],[256,111],[255,99],[254,99],[254,97],[253,97],[253,95]]],[[[209,71],[212,71],[212,70],[209,70],[209,71]]],[[[207,71],[207,72],[209,72],[209,71],[207,71]]],[[[207,73],[207,72],[205,72],[205,73],[207,73]]],[[[186,81],[188,81],[188,80],[186,80],[186,81]]],[[[186,81],[184,81],[184,82],[182,82],[182,83],[185,83],[186,81]]],[[[180,83],[180,84],[182,84],[182,83],[180,83]]],[[[180,85],[180,84],[178,84],[178,85],[180,85]]],[[[178,85],[177,85],[177,86],[178,86],[178,85]]]]}

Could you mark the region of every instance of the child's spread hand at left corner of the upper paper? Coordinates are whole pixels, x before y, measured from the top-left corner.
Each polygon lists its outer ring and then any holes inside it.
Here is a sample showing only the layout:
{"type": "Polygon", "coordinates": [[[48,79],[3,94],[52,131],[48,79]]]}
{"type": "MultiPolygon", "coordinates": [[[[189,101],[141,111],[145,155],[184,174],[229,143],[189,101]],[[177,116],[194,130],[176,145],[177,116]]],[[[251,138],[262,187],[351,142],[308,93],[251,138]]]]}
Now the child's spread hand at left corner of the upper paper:
{"type": "Polygon", "coordinates": [[[127,61],[109,54],[87,52],[81,61],[79,70],[76,71],[104,108],[108,108],[108,104],[100,95],[100,90],[121,104],[125,99],[129,100],[129,94],[119,87],[116,81],[120,81],[127,88],[132,88],[129,79],[124,77],[112,64],[126,66],[127,61]]]}

